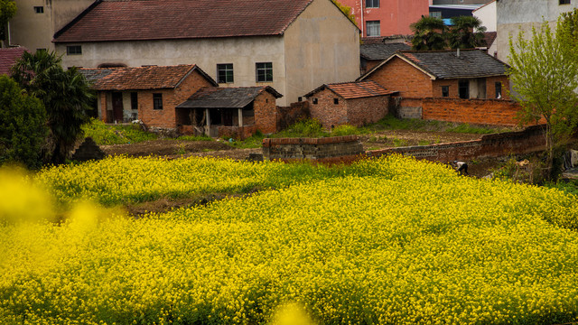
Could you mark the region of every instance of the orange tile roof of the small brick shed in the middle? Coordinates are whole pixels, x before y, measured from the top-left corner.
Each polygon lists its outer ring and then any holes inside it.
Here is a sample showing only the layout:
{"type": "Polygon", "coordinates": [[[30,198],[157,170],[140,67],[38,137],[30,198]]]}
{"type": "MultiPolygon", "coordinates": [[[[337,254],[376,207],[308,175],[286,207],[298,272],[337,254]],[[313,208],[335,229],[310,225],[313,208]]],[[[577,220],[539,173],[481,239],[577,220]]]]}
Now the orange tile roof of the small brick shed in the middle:
{"type": "Polygon", "coordinates": [[[389,91],[386,88],[383,88],[381,85],[379,85],[377,82],[373,80],[367,80],[367,81],[325,84],[308,93],[307,95],[305,95],[305,97],[310,98],[315,93],[322,91],[325,88],[330,89],[336,95],[345,99],[370,98],[377,96],[392,95],[396,93],[396,91],[389,91]]]}

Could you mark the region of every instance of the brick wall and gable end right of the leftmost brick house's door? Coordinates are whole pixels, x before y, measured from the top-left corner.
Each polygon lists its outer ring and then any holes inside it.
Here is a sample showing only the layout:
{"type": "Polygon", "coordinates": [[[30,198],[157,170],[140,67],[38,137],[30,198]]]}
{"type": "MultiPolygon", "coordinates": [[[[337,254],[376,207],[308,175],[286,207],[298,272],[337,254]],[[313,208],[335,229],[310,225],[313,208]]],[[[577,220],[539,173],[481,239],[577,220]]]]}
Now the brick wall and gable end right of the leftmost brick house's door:
{"type": "Polygon", "coordinates": [[[139,91],[138,117],[149,127],[176,128],[175,107],[204,87],[212,85],[194,70],[177,88],[139,91]],[[163,109],[153,108],[153,94],[163,94],[163,109]]]}

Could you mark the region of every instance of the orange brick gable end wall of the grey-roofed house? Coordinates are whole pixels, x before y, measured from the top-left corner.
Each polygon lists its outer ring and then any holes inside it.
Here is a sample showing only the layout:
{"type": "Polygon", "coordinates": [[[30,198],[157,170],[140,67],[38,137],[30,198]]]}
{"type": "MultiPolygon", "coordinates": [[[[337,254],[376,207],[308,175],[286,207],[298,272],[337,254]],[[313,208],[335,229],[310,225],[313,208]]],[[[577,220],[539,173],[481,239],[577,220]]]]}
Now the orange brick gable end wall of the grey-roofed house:
{"type": "Polygon", "coordinates": [[[399,91],[401,97],[429,98],[433,96],[432,79],[397,57],[373,72],[366,80],[374,80],[388,90],[399,91]]]}

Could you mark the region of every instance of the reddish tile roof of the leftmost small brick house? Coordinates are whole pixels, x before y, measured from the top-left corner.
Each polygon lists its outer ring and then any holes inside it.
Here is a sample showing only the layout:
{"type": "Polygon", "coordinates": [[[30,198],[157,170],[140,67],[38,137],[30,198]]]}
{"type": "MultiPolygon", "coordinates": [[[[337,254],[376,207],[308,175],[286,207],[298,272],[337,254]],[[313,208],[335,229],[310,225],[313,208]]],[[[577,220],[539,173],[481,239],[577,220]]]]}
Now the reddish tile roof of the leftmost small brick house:
{"type": "Polygon", "coordinates": [[[182,80],[198,71],[212,85],[219,86],[195,64],[148,66],[137,68],[79,69],[96,90],[139,90],[176,88],[182,80]]]}

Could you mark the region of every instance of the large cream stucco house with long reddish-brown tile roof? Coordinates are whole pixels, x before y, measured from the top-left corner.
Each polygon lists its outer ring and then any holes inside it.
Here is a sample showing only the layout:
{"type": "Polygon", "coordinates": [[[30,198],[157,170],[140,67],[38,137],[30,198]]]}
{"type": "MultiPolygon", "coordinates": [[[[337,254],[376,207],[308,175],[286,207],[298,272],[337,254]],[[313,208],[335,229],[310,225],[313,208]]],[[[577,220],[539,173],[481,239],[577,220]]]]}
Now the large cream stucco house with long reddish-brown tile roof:
{"type": "Polygon", "coordinates": [[[53,42],[64,67],[197,64],[278,106],[359,77],[359,29],[331,0],[97,0],[53,42]]]}

